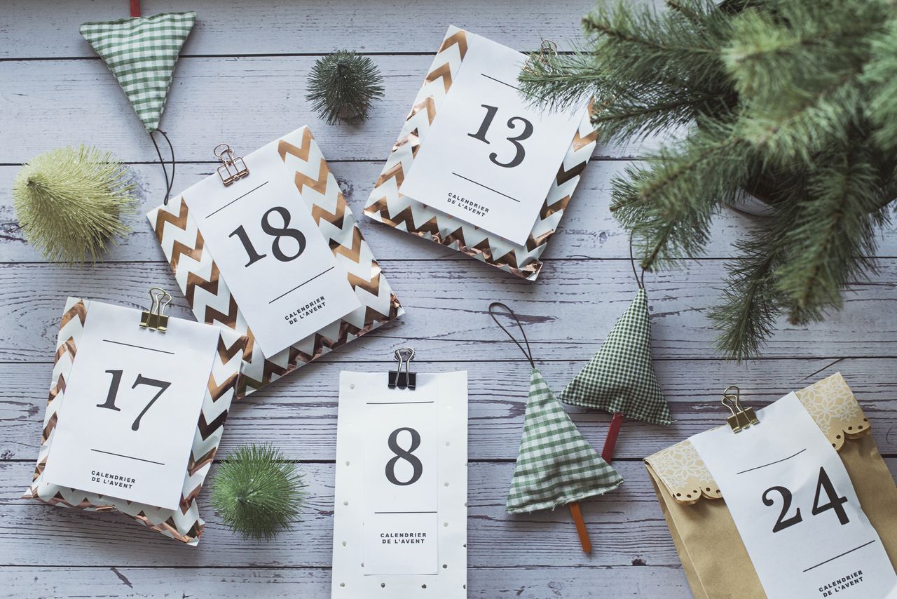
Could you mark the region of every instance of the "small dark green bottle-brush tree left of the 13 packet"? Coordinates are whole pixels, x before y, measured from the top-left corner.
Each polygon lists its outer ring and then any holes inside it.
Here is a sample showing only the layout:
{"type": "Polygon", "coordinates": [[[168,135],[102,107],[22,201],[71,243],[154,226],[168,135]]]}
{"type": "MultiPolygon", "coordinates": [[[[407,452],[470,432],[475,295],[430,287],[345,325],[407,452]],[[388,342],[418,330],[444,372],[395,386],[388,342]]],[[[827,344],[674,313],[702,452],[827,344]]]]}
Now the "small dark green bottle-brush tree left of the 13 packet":
{"type": "Polygon", "coordinates": [[[368,119],[370,104],[383,96],[382,84],[373,60],[340,50],[319,58],[311,68],[305,99],[328,125],[360,122],[368,119]]]}

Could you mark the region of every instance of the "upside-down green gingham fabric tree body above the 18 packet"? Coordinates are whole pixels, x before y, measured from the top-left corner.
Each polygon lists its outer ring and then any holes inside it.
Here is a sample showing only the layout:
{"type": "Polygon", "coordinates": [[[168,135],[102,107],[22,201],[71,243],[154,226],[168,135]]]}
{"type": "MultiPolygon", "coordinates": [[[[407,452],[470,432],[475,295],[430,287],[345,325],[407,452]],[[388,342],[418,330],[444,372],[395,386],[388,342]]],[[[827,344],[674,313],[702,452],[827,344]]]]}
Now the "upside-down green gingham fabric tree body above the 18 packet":
{"type": "Polygon", "coordinates": [[[194,22],[196,13],[160,13],[81,26],[82,37],[109,66],[150,133],[159,128],[171,75],[194,22]]]}

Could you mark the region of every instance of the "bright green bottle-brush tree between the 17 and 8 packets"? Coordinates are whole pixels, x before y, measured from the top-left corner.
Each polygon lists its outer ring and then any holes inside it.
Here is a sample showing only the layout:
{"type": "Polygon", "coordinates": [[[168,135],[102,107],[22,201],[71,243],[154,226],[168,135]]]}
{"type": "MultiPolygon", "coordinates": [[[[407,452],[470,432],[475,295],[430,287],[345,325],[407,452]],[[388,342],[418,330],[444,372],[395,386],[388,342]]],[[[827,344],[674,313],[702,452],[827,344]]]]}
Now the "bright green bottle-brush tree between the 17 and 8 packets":
{"type": "Polygon", "coordinates": [[[292,530],[306,485],[296,465],[271,445],[242,445],[215,473],[212,505],[245,538],[271,539],[292,530]]]}

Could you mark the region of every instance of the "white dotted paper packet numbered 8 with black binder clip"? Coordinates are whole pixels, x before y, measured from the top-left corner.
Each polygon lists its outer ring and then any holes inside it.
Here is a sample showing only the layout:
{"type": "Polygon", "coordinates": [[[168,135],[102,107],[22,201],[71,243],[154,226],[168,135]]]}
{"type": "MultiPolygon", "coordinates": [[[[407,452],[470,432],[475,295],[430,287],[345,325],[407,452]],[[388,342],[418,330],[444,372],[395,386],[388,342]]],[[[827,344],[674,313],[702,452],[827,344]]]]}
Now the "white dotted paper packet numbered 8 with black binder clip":
{"type": "Polygon", "coordinates": [[[466,597],[467,373],[340,374],[331,595],[466,597]]]}

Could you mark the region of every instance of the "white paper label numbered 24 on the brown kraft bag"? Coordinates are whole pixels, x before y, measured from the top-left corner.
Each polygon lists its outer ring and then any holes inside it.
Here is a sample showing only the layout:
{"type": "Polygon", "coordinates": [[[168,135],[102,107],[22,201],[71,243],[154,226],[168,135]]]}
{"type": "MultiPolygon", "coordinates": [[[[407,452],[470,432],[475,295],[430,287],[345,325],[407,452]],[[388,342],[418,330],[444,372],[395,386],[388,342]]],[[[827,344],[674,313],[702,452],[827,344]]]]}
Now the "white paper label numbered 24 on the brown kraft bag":
{"type": "Polygon", "coordinates": [[[760,424],[692,436],[771,599],[897,596],[897,575],[839,455],[794,393],[760,424]]]}

